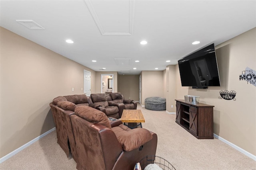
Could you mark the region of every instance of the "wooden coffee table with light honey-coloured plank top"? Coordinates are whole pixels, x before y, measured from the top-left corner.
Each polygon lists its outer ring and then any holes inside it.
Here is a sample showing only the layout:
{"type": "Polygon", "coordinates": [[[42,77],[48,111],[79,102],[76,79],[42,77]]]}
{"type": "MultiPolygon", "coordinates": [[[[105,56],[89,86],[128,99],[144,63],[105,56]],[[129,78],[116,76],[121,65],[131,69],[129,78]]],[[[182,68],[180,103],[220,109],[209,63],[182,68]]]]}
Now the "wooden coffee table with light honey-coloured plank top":
{"type": "Polygon", "coordinates": [[[131,110],[124,109],[120,120],[124,123],[124,125],[128,126],[131,129],[134,129],[138,126],[142,127],[141,123],[145,122],[145,119],[144,119],[144,116],[142,115],[141,110],[135,110],[135,109],[131,109],[131,110]],[[126,123],[140,123],[140,124],[134,127],[130,127],[126,123]]]}

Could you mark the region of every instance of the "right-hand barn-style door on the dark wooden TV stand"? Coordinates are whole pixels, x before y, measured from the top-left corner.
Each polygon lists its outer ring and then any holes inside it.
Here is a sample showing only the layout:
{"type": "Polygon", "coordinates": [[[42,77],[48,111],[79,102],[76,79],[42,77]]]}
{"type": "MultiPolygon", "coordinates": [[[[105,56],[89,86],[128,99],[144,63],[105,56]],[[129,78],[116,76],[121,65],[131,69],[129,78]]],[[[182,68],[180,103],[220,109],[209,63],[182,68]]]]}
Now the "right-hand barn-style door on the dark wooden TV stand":
{"type": "Polygon", "coordinates": [[[198,135],[198,124],[197,124],[198,108],[194,106],[190,106],[189,113],[190,113],[189,131],[197,136],[198,135]]]}

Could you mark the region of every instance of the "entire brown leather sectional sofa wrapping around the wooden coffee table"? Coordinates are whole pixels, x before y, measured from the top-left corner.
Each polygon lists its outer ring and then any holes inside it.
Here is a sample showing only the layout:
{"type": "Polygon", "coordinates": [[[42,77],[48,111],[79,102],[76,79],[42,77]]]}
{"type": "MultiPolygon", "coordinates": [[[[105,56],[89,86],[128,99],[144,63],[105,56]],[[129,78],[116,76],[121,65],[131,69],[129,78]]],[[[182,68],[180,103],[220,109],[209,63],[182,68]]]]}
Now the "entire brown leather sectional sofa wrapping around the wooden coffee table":
{"type": "MultiPolygon", "coordinates": [[[[118,119],[108,119],[121,117],[119,109],[132,109],[125,107],[126,102],[132,104],[132,101],[124,102],[121,95],[123,102],[122,99],[113,102],[110,95],[103,95],[54,98],[50,107],[57,142],[67,156],[71,152],[79,170],[130,170],[146,155],[156,153],[157,135],[143,128],[129,129],[118,119]]],[[[120,93],[114,95],[120,98],[120,93]]],[[[133,107],[136,109],[137,105],[133,107]]]]}

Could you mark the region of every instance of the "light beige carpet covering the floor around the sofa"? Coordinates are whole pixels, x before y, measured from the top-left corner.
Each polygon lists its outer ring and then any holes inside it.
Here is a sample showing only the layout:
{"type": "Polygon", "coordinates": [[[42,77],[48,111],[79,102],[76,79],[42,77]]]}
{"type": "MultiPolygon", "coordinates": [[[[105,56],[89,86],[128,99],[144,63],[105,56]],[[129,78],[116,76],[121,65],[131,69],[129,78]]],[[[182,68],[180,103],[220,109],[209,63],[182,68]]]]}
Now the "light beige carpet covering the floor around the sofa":
{"type": "MultiPolygon", "coordinates": [[[[142,127],[158,135],[156,155],[176,170],[256,170],[256,161],[218,139],[196,139],[175,123],[175,115],[151,111],[138,104],[146,122],[142,127]]],[[[75,170],[57,144],[56,131],[46,135],[2,164],[1,170],[75,170]]]]}

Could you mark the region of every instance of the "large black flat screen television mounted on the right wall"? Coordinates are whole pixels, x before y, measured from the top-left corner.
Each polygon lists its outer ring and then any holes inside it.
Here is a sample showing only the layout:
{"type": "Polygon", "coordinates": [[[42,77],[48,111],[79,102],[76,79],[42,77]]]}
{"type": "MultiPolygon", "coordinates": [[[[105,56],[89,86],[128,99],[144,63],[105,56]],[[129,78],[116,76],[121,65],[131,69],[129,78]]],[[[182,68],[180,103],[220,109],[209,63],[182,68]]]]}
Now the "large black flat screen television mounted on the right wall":
{"type": "Polygon", "coordinates": [[[178,66],[182,86],[192,86],[192,88],[220,86],[214,44],[180,59],[178,66]]]}

